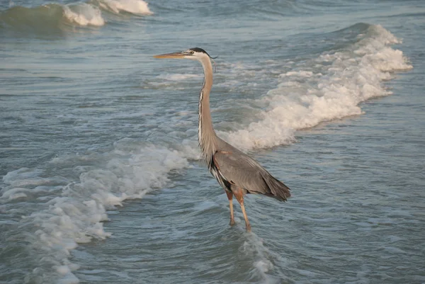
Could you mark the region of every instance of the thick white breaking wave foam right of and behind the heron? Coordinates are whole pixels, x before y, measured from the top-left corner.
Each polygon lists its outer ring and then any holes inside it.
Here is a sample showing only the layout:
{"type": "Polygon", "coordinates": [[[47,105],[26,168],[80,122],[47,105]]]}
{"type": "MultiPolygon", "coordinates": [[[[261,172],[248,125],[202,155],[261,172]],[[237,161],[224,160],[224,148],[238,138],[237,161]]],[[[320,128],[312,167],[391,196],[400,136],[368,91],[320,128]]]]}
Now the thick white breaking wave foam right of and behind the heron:
{"type": "Polygon", "coordinates": [[[235,132],[220,132],[242,149],[273,147],[295,141],[294,132],[321,122],[362,113],[359,103],[387,96],[382,81],[390,72],[411,69],[399,43],[380,25],[371,25],[363,39],[338,52],[324,53],[299,70],[280,74],[280,84],[260,98],[268,106],[259,121],[235,132]]]}

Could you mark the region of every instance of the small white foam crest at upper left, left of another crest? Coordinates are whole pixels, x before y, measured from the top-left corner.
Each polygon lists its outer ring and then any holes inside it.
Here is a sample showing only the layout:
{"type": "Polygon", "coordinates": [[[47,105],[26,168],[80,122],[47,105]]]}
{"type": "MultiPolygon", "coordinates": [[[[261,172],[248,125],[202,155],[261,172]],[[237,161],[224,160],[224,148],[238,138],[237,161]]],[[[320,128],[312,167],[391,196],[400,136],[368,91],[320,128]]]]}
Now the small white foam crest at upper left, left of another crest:
{"type": "Polygon", "coordinates": [[[77,25],[96,25],[105,24],[102,13],[99,8],[86,3],[69,4],[64,7],[64,17],[71,23],[77,25]]]}

